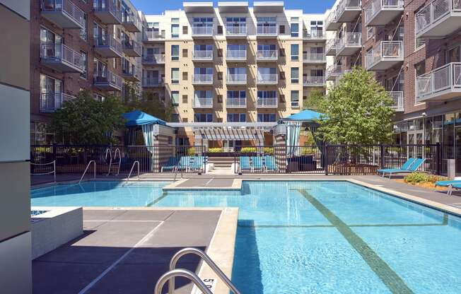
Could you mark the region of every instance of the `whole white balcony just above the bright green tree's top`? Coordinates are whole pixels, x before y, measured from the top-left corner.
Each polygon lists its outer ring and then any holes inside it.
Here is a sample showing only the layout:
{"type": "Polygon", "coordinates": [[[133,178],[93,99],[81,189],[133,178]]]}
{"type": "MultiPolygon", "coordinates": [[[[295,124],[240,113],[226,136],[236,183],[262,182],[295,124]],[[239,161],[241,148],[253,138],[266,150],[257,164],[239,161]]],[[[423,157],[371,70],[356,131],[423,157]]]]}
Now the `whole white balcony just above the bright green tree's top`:
{"type": "Polygon", "coordinates": [[[402,64],[403,42],[381,41],[366,53],[365,66],[368,71],[385,71],[402,64]]]}

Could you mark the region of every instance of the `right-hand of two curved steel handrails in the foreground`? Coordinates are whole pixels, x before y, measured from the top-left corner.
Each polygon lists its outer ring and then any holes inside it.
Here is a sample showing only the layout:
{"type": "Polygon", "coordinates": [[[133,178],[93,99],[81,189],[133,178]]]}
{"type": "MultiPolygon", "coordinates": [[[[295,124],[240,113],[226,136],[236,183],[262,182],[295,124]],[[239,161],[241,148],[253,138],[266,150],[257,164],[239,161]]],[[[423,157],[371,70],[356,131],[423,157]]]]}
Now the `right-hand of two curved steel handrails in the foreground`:
{"type": "MultiPolygon", "coordinates": [[[[175,269],[177,261],[179,261],[181,257],[187,254],[195,254],[201,259],[203,259],[203,261],[205,261],[206,264],[208,264],[208,266],[214,271],[214,273],[218,275],[224,283],[226,283],[226,286],[228,286],[228,288],[232,290],[233,293],[240,294],[240,291],[234,286],[234,284],[230,281],[226,274],[224,274],[223,271],[219,269],[219,267],[214,263],[214,261],[211,260],[211,258],[205,252],[197,248],[189,247],[176,252],[176,254],[170,260],[170,272],[175,269]]],[[[170,277],[170,283],[168,286],[168,293],[173,294],[175,290],[175,276],[170,277]]]]}

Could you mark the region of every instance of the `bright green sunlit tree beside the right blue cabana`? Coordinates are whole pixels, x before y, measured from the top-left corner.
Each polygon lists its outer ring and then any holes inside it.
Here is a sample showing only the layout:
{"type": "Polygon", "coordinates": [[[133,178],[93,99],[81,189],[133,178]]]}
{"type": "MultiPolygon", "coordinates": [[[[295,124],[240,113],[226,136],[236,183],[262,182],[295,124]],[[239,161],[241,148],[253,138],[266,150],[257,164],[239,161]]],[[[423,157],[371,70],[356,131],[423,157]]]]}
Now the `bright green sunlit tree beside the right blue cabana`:
{"type": "Polygon", "coordinates": [[[392,98],[361,67],[346,73],[339,84],[320,99],[320,136],[328,143],[387,143],[392,138],[392,98]]]}

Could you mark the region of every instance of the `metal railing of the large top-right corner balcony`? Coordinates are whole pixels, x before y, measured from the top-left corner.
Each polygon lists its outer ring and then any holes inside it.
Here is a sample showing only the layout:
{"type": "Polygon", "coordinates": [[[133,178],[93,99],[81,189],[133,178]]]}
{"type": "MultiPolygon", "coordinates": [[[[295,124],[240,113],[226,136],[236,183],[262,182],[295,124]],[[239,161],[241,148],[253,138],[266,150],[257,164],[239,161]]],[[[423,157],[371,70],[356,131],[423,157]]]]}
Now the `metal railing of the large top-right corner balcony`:
{"type": "Polygon", "coordinates": [[[460,0],[434,0],[414,16],[416,37],[452,12],[461,12],[460,0]]]}

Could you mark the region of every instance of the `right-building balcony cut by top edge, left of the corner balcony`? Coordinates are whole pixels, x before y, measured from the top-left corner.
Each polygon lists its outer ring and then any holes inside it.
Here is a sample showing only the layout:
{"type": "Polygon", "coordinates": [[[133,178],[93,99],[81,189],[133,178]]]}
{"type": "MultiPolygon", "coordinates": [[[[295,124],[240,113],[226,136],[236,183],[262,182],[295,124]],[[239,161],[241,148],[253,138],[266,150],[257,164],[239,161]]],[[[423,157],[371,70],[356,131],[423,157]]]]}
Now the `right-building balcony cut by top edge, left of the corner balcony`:
{"type": "Polygon", "coordinates": [[[365,25],[387,25],[404,10],[403,0],[372,0],[364,8],[365,25]]]}

